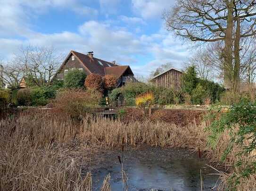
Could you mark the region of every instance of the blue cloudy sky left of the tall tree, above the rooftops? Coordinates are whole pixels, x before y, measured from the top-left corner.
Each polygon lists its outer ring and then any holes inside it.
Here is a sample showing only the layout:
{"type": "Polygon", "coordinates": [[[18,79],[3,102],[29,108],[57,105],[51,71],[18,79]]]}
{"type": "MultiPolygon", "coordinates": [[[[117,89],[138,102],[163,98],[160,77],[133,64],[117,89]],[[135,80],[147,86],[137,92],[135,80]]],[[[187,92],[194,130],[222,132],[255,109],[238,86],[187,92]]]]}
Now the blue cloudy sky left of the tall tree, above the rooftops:
{"type": "Polygon", "coordinates": [[[8,61],[21,46],[34,45],[63,54],[94,51],[97,58],[130,65],[137,76],[166,62],[182,68],[188,45],[161,19],[173,1],[0,0],[0,58],[8,61]]]}

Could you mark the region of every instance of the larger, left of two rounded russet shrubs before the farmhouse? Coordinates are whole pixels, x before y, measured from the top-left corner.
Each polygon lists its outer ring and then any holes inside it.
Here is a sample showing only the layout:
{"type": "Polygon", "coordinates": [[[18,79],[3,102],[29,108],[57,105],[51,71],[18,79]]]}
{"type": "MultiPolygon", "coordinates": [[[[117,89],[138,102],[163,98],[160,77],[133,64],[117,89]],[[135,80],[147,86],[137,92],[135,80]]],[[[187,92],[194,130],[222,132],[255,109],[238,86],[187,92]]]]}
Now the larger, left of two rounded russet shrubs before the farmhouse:
{"type": "Polygon", "coordinates": [[[102,92],[104,89],[103,78],[98,74],[90,74],[86,77],[84,86],[102,92]]]}

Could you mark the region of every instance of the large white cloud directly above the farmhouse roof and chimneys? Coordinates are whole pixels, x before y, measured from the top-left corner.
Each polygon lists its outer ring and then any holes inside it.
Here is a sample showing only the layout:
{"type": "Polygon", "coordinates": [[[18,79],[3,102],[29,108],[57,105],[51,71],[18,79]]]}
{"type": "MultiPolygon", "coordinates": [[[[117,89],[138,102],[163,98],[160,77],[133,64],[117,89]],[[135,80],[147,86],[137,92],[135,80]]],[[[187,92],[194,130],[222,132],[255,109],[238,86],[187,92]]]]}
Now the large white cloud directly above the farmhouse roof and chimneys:
{"type": "MultiPolygon", "coordinates": [[[[124,29],[115,30],[112,26],[96,21],[89,21],[79,27],[81,35],[87,39],[91,50],[105,58],[114,59],[142,53],[140,40],[124,29]]],[[[127,58],[125,59],[127,60],[127,58]]]]}

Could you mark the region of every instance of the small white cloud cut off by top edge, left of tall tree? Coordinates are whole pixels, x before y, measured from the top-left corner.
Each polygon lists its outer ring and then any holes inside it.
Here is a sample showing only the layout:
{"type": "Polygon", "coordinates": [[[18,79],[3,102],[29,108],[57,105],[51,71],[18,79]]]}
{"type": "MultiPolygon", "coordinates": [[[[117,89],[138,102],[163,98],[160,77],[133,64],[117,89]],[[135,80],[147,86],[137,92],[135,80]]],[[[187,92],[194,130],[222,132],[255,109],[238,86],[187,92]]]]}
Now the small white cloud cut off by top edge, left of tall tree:
{"type": "Polygon", "coordinates": [[[174,0],[132,0],[134,12],[145,19],[160,19],[164,9],[170,8],[174,0]]]}

